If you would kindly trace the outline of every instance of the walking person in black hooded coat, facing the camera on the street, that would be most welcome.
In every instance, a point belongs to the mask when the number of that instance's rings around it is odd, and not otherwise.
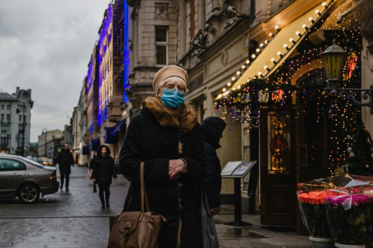
[[[98,184],[98,196],[101,200],[101,209],[109,208],[110,184],[111,178],[117,179],[117,172],[114,164],[114,159],[110,157],[110,149],[108,146],[101,145],[97,150],[97,157],[93,161],[92,166],[92,181]],[[105,192],[105,198],[104,198]]]

